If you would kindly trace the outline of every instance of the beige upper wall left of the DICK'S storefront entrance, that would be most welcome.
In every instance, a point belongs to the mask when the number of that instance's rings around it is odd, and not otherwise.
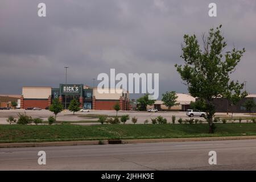
[[[52,93],[51,87],[24,86],[22,94],[24,98],[48,98]]]

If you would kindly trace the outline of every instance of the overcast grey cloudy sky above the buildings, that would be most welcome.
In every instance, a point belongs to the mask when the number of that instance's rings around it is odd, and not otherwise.
[[[46,3],[46,17],[38,3]],[[217,17],[208,5],[217,4]],[[93,85],[99,73],[159,73],[160,94],[187,93],[174,65],[184,34],[222,24],[228,49],[245,47],[232,78],[256,93],[256,1],[1,0],[0,94],[22,86]],[[227,49],[227,51],[228,51]]]

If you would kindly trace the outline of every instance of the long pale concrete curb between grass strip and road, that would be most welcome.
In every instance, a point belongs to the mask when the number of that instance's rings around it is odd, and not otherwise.
[[[163,138],[163,139],[123,139],[122,144],[126,143],[156,143],[156,142],[191,142],[191,141],[213,141],[213,140],[242,140],[256,139],[256,136],[245,137],[202,137],[202,138]],[[10,147],[51,147],[51,146],[79,146],[93,144],[108,144],[108,140],[85,140],[68,142],[28,142],[28,143],[0,143],[0,148]]]

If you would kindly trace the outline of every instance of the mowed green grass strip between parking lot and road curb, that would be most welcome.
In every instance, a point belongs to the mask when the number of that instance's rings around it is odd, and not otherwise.
[[[208,124],[0,125],[0,143],[256,135],[255,123],[217,123],[216,126],[216,132],[209,134]]]

